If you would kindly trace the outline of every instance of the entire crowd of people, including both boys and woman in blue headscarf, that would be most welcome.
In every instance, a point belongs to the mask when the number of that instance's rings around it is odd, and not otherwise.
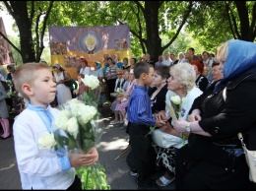
[[[37,157],[36,148],[28,136],[38,136],[35,121],[40,131],[48,128],[58,114],[54,106],[74,97],[81,99],[81,95],[89,91],[81,79],[95,75],[100,82],[95,90],[96,97],[100,100],[104,95],[114,115],[110,125],[120,125],[129,135],[128,156],[132,158],[127,164],[137,178],[138,189],[158,189],[173,181],[177,190],[255,189],[237,138],[237,133],[241,132],[249,150],[256,149],[255,139],[250,136],[256,125],[255,43],[227,40],[218,48],[216,57],[207,51],[202,56],[195,55],[191,47],[187,52],[179,52],[177,59],[173,53],[165,52],[158,61],[152,61],[149,53],[138,59],[125,57],[118,65],[112,57],[106,57],[105,61],[104,67],[96,61],[95,70],[91,70],[88,61],[81,59],[78,79],[72,79],[58,63],[52,68],[43,63],[28,63],[19,67],[15,75],[9,75],[16,91],[29,99],[26,109],[14,123],[23,188],[73,189],[81,185],[74,167],[95,162],[96,150],[77,159],[72,155],[67,159],[48,158],[40,153],[41,157],[33,160]],[[73,84],[67,86],[72,80]],[[1,85],[0,91],[0,98],[4,99],[6,94]],[[169,109],[169,106],[174,108],[174,96],[181,100],[175,118]],[[51,106],[54,101],[56,104]],[[30,123],[31,132],[28,132],[27,121],[31,116],[34,122]],[[8,114],[1,112],[0,117],[4,129],[2,137],[6,138],[10,136],[5,125]],[[156,145],[149,134],[153,127],[162,134],[177,137],[182,144],[167,148]],[[27,147],[23,147],[25,143]],[[44,174],[48,166],[55,167]],[[154,179],[159,172],[160,177]]]

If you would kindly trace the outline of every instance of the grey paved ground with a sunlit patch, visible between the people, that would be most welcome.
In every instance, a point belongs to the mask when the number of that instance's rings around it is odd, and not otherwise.
[[[104,132],[97,145],[99,162],[105,166],[107,183],[111,190],[134,190],[137,189],[136,178],[130,174],[126,163],[127,154],[116,159],[128,146],[129,136],[118,125],[109,125],[113,116],[110,115],[109,107],[101,109],[105,121]],[[11,121],[12,122],[12,121]],[[2,133],[0,131],[0,133]],[[20,174],[14,152],[13,136],[6,140],[0,140],[0,189],[22,189]],[[174,190],[174,182],[160,190]]]

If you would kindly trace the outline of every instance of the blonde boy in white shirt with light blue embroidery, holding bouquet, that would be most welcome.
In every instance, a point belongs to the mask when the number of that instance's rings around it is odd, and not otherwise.
[[[51,123],[60,112],[49,104],[56,95],[51,72],[44,63],[26,63],[17,68],[13,78],[17,92],[29,100],[13,125],[22,188],[81,189],[75,167],[93,164],[98,158],[96,149],[88,155],[69,152],[59,156],[51,149],[38,148],[38,139],[53,131]]]

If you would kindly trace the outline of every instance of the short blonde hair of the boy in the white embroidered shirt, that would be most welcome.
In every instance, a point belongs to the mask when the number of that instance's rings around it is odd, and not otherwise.
[[[36,73],[36,71],[41,69],[47,69],[49,71],[52,71],[51,67],[45,63],[30,62],[23,64],[22,66],[19,66],[16,69],[13,77],[15,90],[18,93],[20,93],[23,97],[30,100],[30,97],[24,94],[24,92],[22,91],[22,86],[24,84],[32,85],[32,82],[36,79],[37,75],[39,74]]]

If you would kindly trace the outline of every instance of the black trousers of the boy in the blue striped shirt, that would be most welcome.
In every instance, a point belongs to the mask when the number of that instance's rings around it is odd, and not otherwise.
[[[150,183],[156,170],[157,154],[152,146],[151,135],[147,135],[149,131],[149,126],[129,123],[130,144],[139,173],[138,185],[142,186]]]

